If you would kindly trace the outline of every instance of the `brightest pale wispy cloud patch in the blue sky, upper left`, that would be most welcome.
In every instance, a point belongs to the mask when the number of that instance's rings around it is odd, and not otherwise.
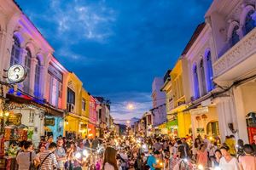
[[[55,11],[55,14],[52,15],[51,20],[57,23],[58,35],[78,34],[76,38],[79,39],[104,42],[113,34],[110,25],[115,21],[115,14],[113,9],[102,7],[102,5],[98,3],[96,6],[86,6],[74,1],[67,8],[63,8],[58,1],[52,1],[50,10]]]

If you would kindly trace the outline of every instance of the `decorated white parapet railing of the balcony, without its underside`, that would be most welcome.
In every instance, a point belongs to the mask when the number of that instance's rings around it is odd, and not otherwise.
[[[255,53],[256,28],[250,31],[213,64],[214,77],[219,77]]]

